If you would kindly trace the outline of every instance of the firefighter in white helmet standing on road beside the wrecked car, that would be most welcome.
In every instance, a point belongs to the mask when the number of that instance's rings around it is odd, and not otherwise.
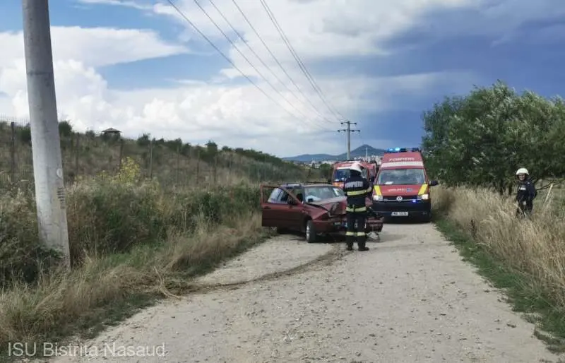
[[[359,162],[355,162],[350,167],[350,176],[343,183],[343,191],[347,196],[347,232],[345,234],[345,243],[347,251],[352,251],[353,242],[357,237],[357,246],[359,251],[369,251],[365,246],[367,235],[365,234],[365,218],[367,215],[367,205],[365,198],[371,193],[371,185],[369,181],[362,177],[362,166]],[[357,222],[357,230],[355,229]]]

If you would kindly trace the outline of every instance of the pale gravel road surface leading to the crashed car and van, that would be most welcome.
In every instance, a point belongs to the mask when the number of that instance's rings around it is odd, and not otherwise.
[[[233,285],[169,299],[88,343],[164,343],[165,358],[107,352],[82,359],[557,362],[533,337],[534,326],[514,314],[433,225],[387,224],[381,235],[364,253],[276,237],[201,280]],[[304,263],[286,275],[274,273]]]

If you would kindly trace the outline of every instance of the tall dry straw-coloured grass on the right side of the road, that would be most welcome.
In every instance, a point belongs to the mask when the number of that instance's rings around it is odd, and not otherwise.
[[[537,196],[531,220],[516,218],[513,197],[487,189],[439,187],[434,211],[445,218],[504,266],[532,278],[535,289],[565,308],[564,191]]]

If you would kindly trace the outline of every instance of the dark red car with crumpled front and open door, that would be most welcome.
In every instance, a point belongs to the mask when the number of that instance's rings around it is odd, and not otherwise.
[[[346,196],[343,189],[331,184],[261,185],[263,227],[276,227],[278,232],[290,230],[306,234],[308,242],[320,235],[345,235]],[[365,232],[383,230],[383,217],[374,213],[367,198]]]

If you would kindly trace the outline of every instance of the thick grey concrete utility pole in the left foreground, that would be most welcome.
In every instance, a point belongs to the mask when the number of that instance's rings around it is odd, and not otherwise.
[[[65,185],[47,0],[22,0],[31,145],[39,237],[69,261]]]

